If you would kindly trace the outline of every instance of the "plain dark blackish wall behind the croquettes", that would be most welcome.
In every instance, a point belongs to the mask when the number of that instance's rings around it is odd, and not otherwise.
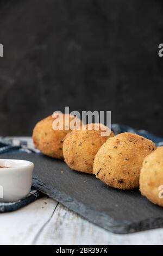
[[[0,1],[0,135],[70,106],[163,136],[162,15],[161,0]]]

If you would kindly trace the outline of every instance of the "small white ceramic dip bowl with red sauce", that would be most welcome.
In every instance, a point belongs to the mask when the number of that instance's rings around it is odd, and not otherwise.
[[[15,202],[26,197],[32,186],[34,163],[0,159],[0,202]]]

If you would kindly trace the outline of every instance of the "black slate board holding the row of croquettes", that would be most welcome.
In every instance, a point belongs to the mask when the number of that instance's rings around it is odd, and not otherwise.
[[[94,175],[73,171],[64,161],[42,154],[1,157],[33,161],[33,185],[99,227],[118,234],[163,227],[163,209],[142,197],[139,190],[116,190]]]

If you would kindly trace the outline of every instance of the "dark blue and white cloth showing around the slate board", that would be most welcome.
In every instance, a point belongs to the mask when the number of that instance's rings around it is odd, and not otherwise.
[[[158,147],[163,145],[162,138],[157,137],[145,130],[136,130],[126,125],[119,125],[119,124],[112,124],[111,129],[114,131],[115,135],[121,132],[137,133],[141,136],[151,139]],[[22,137],[19,139],[17,137],[15,139],[15,138],[3,137],[0,139],[0,154],[4,154],[4,153],[14,154],[14,152],[17,152],[17,151],[26,152],[27,154],[39,153],[38,150],[34,149],[31,138]],[[34,202],[37,198],[40,198],[41,196],[42,196],[42,193],[39,190],[32,188],[28,196],[26,198],[23,198],[22,200],[19,200],[18,202],[0,203],[0,212],[15,211],[17,209],[22,208],[25,205],[28,205],[29,203]]]

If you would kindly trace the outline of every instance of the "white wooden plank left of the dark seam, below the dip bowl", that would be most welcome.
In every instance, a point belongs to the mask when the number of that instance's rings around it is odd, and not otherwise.
[[[57,202],[47,197],[13,212],[0,214],[1,245],[31,245],[50,220]]]

